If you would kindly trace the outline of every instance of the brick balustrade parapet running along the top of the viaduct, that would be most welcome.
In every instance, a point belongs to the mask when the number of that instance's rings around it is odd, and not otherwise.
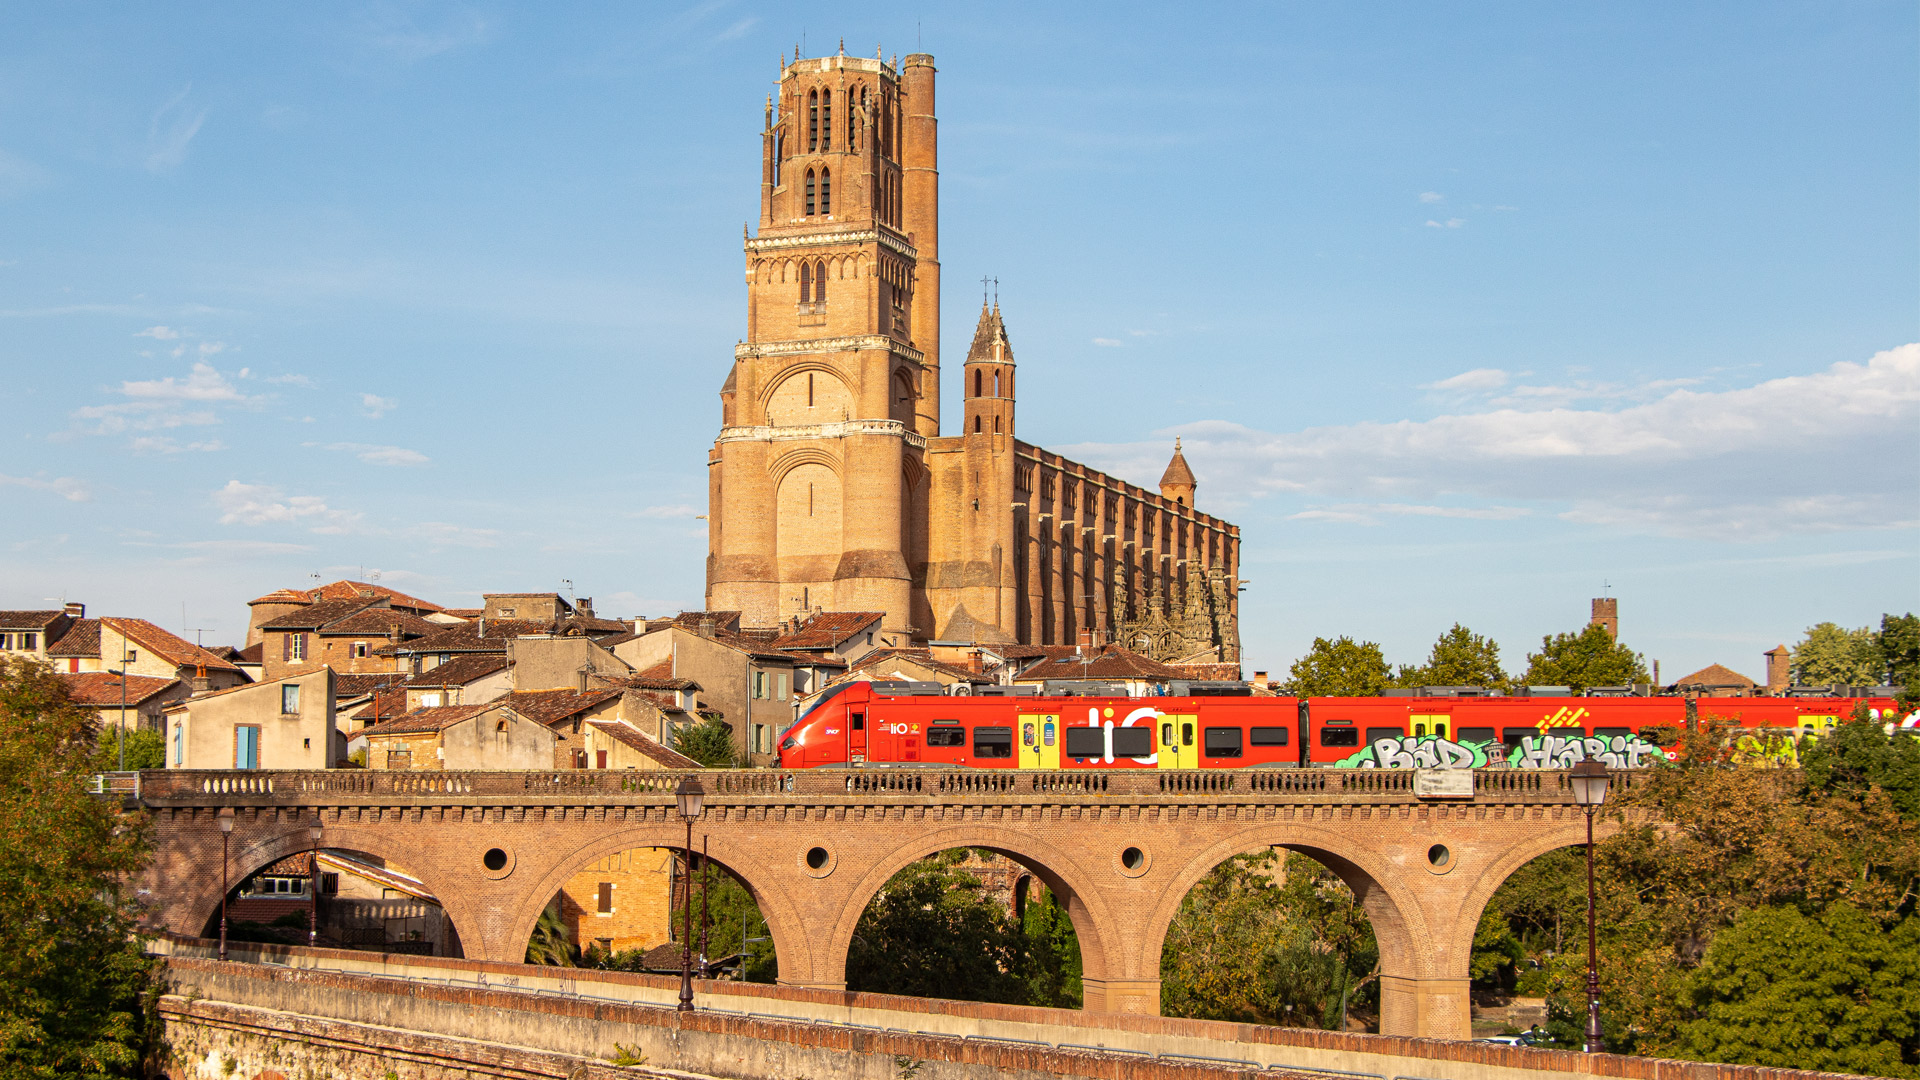
[[[236,773],[156,769],[140,774],[140,799],[154,805],[311,805],[455,798],[651,805],[670,801],[684,778],[697,778],[718,803],[1444,803],[1415,792],[1407,769],[699,769],[699,771],[386,771],[315,769]],[[1615,796],[1644,778],[1615,773]],[[1452,798],[1457,801],[1457,798]],[[1478,769],[1473,801],[1486,805],[1572,803],[1565,771]]]

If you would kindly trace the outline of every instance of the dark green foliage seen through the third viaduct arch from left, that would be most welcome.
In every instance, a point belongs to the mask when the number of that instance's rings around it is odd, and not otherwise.
[[[866,905],[847,953],[849,990],[1027,1003],[1027,936],[958,869],[964,857],[922,859]]]

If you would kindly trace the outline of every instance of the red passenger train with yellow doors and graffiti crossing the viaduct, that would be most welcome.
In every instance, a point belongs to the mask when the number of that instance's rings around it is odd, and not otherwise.
[[[780,765],[1471,769],[1503,759],[1517,769],[1565,769],[1597,759],[1636,769],[1668,757],[1659,744],[1672,740],[1657,730],[1688,724],[1684,698],[1043,698],[931,690],[843,684],[781,734]],[[1862,701],[1874,715],[1895,717],[1893,698],[1882,696],[1699,698],[1693,705],[1697,723],[1818,734]]]

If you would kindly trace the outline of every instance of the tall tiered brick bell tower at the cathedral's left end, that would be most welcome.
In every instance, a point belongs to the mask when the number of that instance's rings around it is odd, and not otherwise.
[[[933,58],[787,61],[745,238],[747,334],[708,455],[707,607],[912,632],[939,436]],[[893,634],[889,634],[893,636]]]

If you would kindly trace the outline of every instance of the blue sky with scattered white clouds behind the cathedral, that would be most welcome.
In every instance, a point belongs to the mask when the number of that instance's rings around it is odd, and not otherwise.
[[[941,67],[947,352],[996,277],[1023,438],[1187,440],[1250,671],[1605,590],[1761,675],[1920,607],[1916,12],[13,4],[0,607],[699,605],[762,102],[845,38]]]

